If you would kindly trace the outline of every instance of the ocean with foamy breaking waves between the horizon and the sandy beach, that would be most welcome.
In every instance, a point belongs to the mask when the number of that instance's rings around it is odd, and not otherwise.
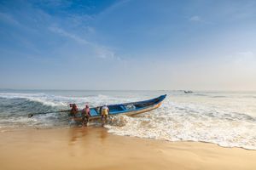
[[[22,128],[71,127],[67,114],[76,103],[90,107],[152,99],[167,94],[160,108],[137,116],[112,116],[108,133],[168,141],[201,141],[256,150],[256,92],[0,90],[0,132]],[[38,112],[49,114],[28,114]],[[90,122],[97,126],[97,122]]]

